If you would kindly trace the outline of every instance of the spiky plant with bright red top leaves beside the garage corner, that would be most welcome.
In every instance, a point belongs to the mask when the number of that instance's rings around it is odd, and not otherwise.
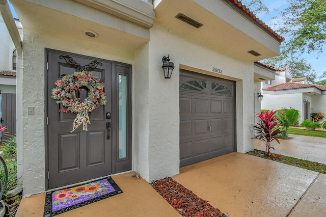
[[[253,139],[258,139],[265,144],[266,146],[265,155],[268,157],[269,157],[269,149],[273,148],[270,147],[270,143],[273,140],[275,140],[280,144],[280,141],[278,140],[278,134],[282,131],[280,130],[280,127],[278,127],[279,121],[275,116],[276,112],[277,111],[273,112],[272,110],[270,113],[266,111],[265,114],[263,114],[262,112],[260,114],[257,114],[257,117],[260,118],[261,122],[257,123],[257,125],[254,125],[254,130],[256,132],[256,135]]]

